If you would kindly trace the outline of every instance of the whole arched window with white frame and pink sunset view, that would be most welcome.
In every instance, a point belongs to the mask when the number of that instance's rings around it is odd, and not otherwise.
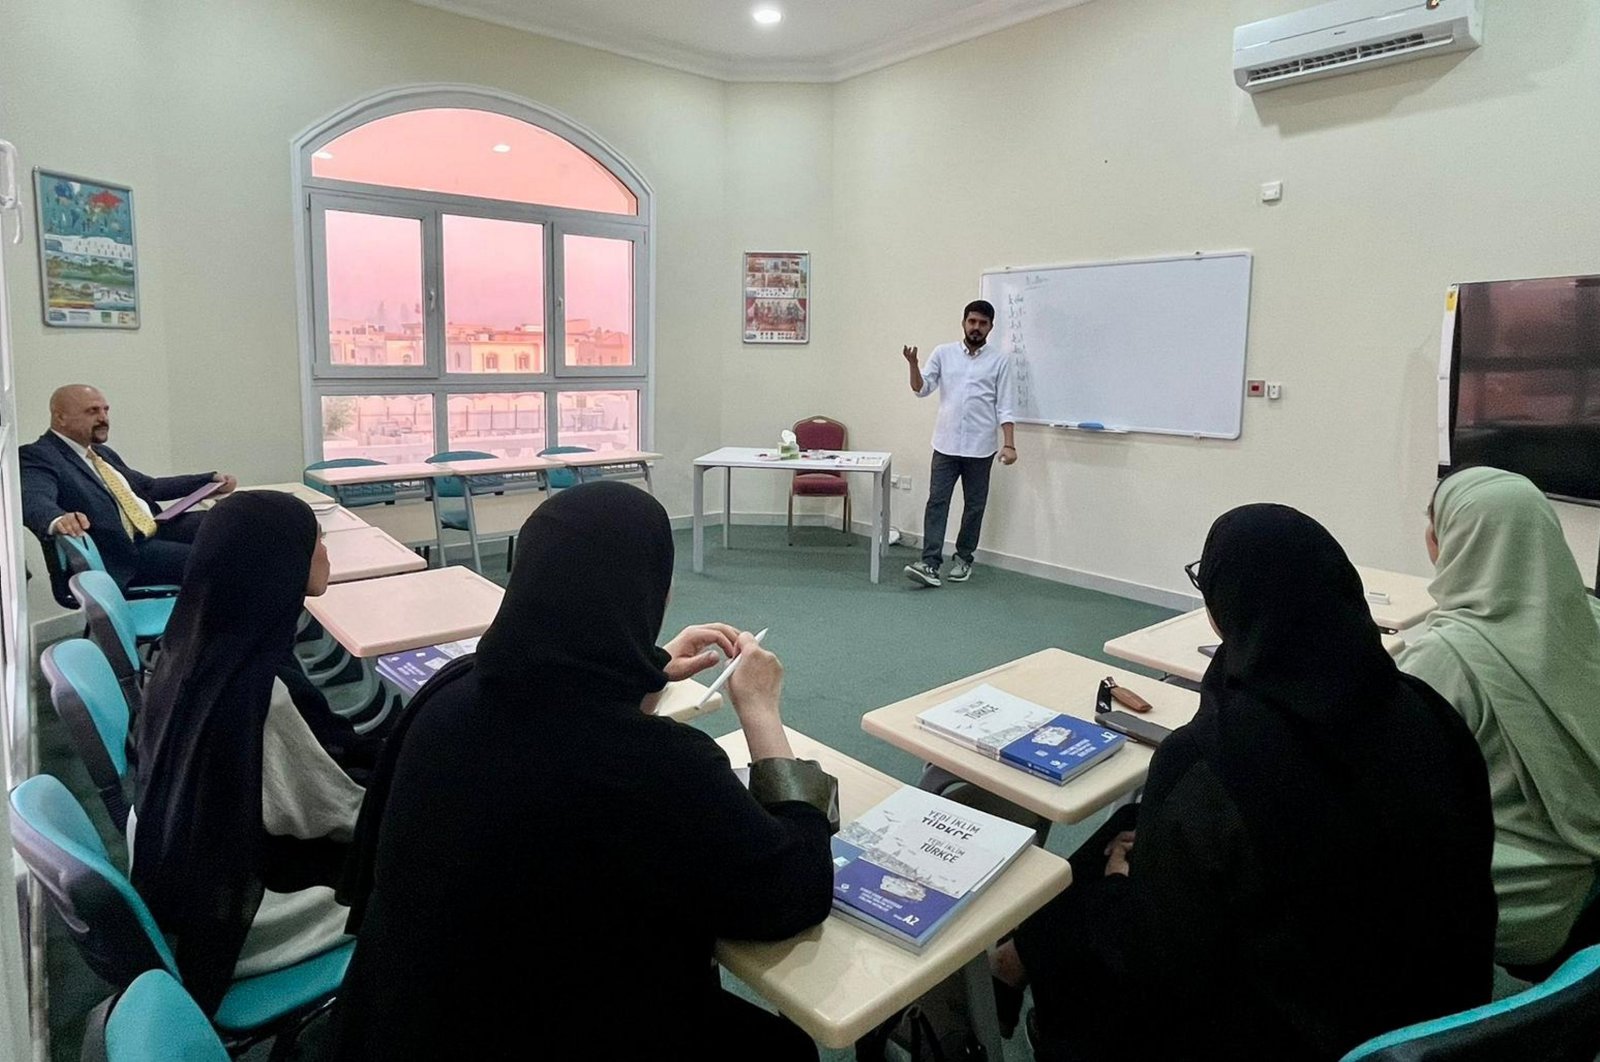
[[[402,90],[296,152],[307,422],[323,427],[307,459],[648,443],[650,189],[598,138],[493,93]],[[432,435],[419,417],[394,429],[395,395],[427,400]],[[563,416],[586,398],[618,416]],[[507,400],[517,430],[491,438]]]

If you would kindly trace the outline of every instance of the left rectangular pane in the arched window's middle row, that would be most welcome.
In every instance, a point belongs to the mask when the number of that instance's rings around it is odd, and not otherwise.
[[[328,355],[334,365],[424,365],[422,222],[330,210]]]

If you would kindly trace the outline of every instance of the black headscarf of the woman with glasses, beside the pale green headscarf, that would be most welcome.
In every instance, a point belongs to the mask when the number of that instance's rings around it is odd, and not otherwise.
[[[1405,833],[1430,763],[1482,769],[1450,705],[1395,667],[1360,574],[1320,523],[1286,505],[1234,509],[1211,526],[1198,581],[1222,645],[1195,737],[1275,872],[1371,851],[1390,819]]]

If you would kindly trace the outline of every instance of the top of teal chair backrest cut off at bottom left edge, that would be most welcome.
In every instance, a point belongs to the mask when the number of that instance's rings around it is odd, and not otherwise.
[[[106,1012],[109,1009],[109,1014]],[[90,1016],[83,1062],[227,1062],[200,1004],[165,969],[149,969]]]

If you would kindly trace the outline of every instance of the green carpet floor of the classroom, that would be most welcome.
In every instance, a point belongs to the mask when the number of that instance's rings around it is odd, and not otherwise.
[[[704,621],[747,630],[770,627],[766,648],[786,669],[784,721],[906,782],[917,781],[922,765],[862,733],[862,713],[1048,646],[1107,659],[1101,653],[1107,638],[1171,614],[986,566],[978,566],[966,584],[920,589],[901,574],[901,568],[915,560],[915,552],[904,547],[891,547],[883,582],[874,585],[867,581],[866,541],[824,528],[797,529],[792,547],[782,528],[736,528],[731,550],[722,549],[722,536],[714,529],[707,536],[706,571],[696,576],[690,566],[690,534],[683,531],[675,537],[678,574],[667,609],[667,635]],[[501,561],[498,555],[485,557],[486,574],[502,581]],[[1085,710],[1091,696],[1091,689],[1082,691]],[[110,838],[104,809],[48,709],[43,689],[38,705],[42,769],[61,776]],[[731,710],[722,710],[694,725],[720,736],[738,726],[738,720]],[[1096,825],[1098,820],[1090,820],[1058,827],[1050,848],[1066,854]],[[730,987],[739,990],[734,984]],[[83,1016],[107,993],[109,988],[83,966],[64,926],[53,920],[53,1059],[78,1057]],[[320,1057],[323,1033],[322,1028],[309,1030],[299,1057]],[[824,1059],[853,1057],[848,1051],[822,1054]],[[1021,1038],[1008,1044],[1006,1056],[1027,1057]],[[264,1060],[266,1048],[246,1057]]]

